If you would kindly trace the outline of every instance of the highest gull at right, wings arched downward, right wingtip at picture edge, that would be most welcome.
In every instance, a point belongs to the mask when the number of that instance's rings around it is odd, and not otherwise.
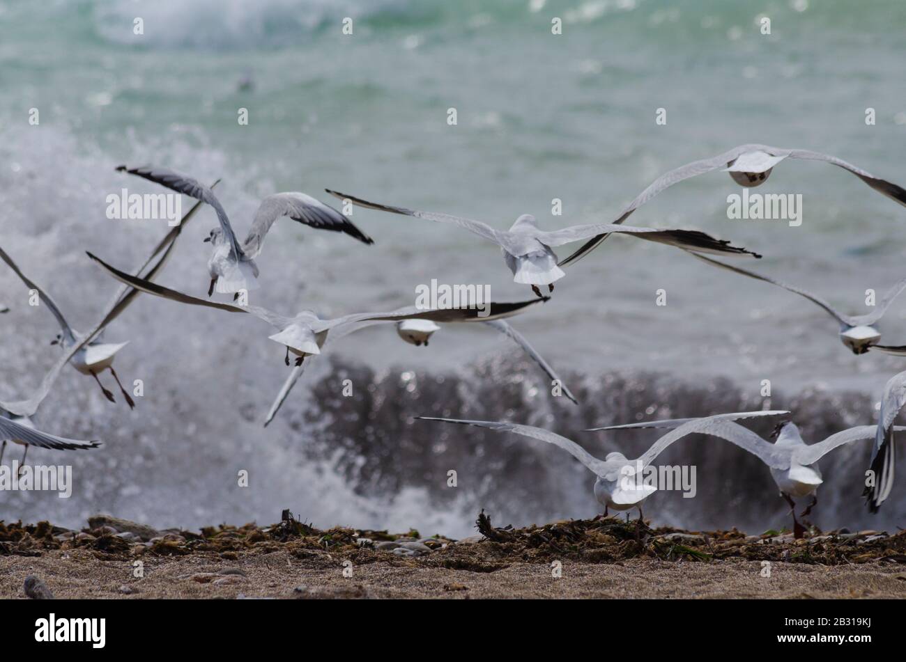
[[[660,194],[664,189],[670,188],[673,184],[678,184],[683,180],[694,177],[695,175],[704,175],[714,170],[722,169],[728,173],[733,181],[742,186],[757,186],[764,184],[768,175],[775,165],[785,158],[800,158],[805,161],[824,161],[844,170],[848,170],[861,179],[865,184],[871,186],[875,191],[886,195],[892,200],[906,205],[906,190],[903,190],[897,184],[892,184],[884,179],[879,179],[871,173],[866,173],[862,168],[853,164],[846,163],[836,156],[829,156],[819,152],[811,152],[807,149],[783,149],[781,147],[768,147],[766,145],[740,145],[733,147],[728,152],[718,156],[705,158],[700,161],[693,161],[686,165],[680,165],[678,168],[670,170],[665,175],[660,175],[651,185],[639,194],[635,200],[623,207],[620,216],[614,221],[619,225],[630,214],[647,203],[655,195]],[[575,251],[568,258],[560,262],[561,267],[581,260],[585,255],[593,251],[602,241],[607,239],[607,234],[601,233],[583,244],[582,248]]]

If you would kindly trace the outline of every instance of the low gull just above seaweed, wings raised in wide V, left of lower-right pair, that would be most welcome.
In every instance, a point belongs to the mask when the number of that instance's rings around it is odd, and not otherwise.
[[[478,428],[487,428],[496,432],[516,432],[516,434],[521,434],[523,437],[531,437],[532,439],[546,441],[549,444],[554,444],[554,446],[559,446],[572,455],[573,458],[582,462],[586,468],[589,468],[598,477],[594,481],[594,497],[599,504],[604,506],[605,517],[608,515],[610,508],[614,510],[630,510],[636,507],[639,508],[639,519],[641,519],[641,502],[651,497],[658,488],[648,484],[641,484],[639,482],[641,477],[632,477],[651,465],[654,459],[674,441],[703,429],[708,429],[712,419],[732,421],[732,417],[751,418],[756,416],[778,416],[787,413],[789,411],[744,411],[733,414],[719,414],[708,419],[692,419],[680,425],[670,434],[661,437],[638,459],[627,459],[626,456],[618,452],[608,453],[604,459],[597,459],[575,441],[561,437],[550,430],[535,428],[531,425],[519,425],[505,421],[464,421],[430,416],[416,416],[416,418],[421,421],[443,421],[461,425],[474,425]]]

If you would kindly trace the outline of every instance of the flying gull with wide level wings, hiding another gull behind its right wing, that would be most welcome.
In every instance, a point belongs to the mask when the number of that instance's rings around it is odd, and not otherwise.
[[[520,310],[527,306],[537,303],[537,300],[519,301],[516,303],[491,303],[487,310],[486,317],[480,317],[477,308],[441,308],[432,310],[419,310],[416,307],[403,308],[389,313],[357,313],[345,317],[334,319],[321,319],[311,310],[303,310],[294,317],[285,317],[278,313],[267,310],[259,306],[234,306],[232,304],[220,303],[217,301],[208,301],[203,298],[191,297],[175,289],[164,288],[149,280],[130,276],[128,273],[115,269],[100,258],[88,253],[88,257],[97,262],[102,270],[107,271],[113,278],[129,285],[132,288],[140,289],[162,298],[169,298],[179,303],[191,304],[193,306],[203,306],[225,310],[230,313],[247,313],[264,320],[277,331],[269,339],[274,340],[286,348],[285,363],[289,365],[289,355],[292,353],[296,356],[295,364],[300,366],[306,356],[321,354],[321,348],[328,339],[330,331],[334,328],[342,328],[356,322],[365,321],[396,321],[401,317],[411,317],[416,319],[430,319],[436,322],[453,322],[453,321],[473,321],[481,322],[498,317],[509,317],[516,315]],[[546,300],[546,299],[543,299]],[[342,333],[339,332],[338,333]],[[335,336],[336,334],[334,334]]]

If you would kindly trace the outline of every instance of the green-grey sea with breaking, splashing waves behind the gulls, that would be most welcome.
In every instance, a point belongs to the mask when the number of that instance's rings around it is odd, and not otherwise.
[[[551,33],[554,16],[562,34]],[[770,35],[760,32],[765,16]],[[345,17],[352,35],[342,34]],[[218,196],[239,234],[266,194],[300,190],[330,202],[325,187],[497,227],[521,213],[545,228],[608,222],[662,172],[747,142],[824,151],[903,184],[904,21],[899,0],[0,2],[2,245],[84,329],[116,287],[84,251],[129,268],[165,232],[105,218],[107,194],[122,186],[159,191],[116,173],[120,163],[222,177]],[[236,121],[241,108],[247,126]],[[457,126],[448,126],[449,108]],[[666,125],[655,123],[657,109]],[[731,239],[765,255],[745,266],[853,313],[867,310],[867,288],[880,293],[902,278],[906,210],[852,175],[786,161],[755,191],[802,194],[802,225],[729,220],[727,196],[739,187],[723,173],[671,188],[631,223]],[[562,216],[551,213],[554,198]],[[370,210],[352,218],[373,246],[278,222],[255,302],[325,315],[390,309],[430,279],[488,284],[496,300],[532,296],[494,246],[467,232]],[[201,240],[215,222],[210,209],[199,214],[162,283],[204,293]],[[57,356],[48,345],[57,329],[45,310],[27,307],[9,270],[0,288],[13,308],[0,319],[0,392],[21,397]],[[130,340],[116,367],[146,384],[137,409],[109,404],[90,379],[66,371],[36,421],[108,445],[72,456],[33,449],[34,461],[72,461],[75,492],[7,493],[0,518],[77,525],[107,511],[198,526],[269,522],[289,507],[316,525],[463,535],[481,507],[498,524],[589,516],[593,476],[557,449],[410,418],[524,421],[592,452],[631,455],[651,434],[581,430],[760,408],[768,379],[770,405],[790,408],[819,440],[871,422],[883,384],[906,367],[849,354],[833,320],[793,294],[624,238],[570,267],[554,298],[513,324],[567,376],[582,407],[552,398],[493,331],[444,328],[426,348],[384,327],[314,361],[265,430],[287,369],[261,324],[140,298],[108,332]],[[906,344],[906,299],[882,330]],[[352,379],[352,398],[340,395],[342,378]],[[7,452],[17,458],[17,448]],[[901,489],[880,515],[864,511],[869,452],[866,443],[824,459],[817,525],[902,524]],[[743,451],[688,440],[663,459],[694,461],[699,495],[655,495],[645,512],[655,523],[786,524],[766,469]],[[456,488],[447,487],[450,469]],[[247,488],[237,486],[240,470]]]

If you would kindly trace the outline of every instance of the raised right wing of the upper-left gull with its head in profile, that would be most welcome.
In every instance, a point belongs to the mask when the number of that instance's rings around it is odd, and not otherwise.
[[[267,232],[277,219],[283,216],[288,216],[294,221],[304,223],[318,230],[345,232],[363,243],[374,243],[371,237],[361,232],[342,213],[315,200],[311,195],[295,192],[282,193],[268,195],[258,206],[258,211],[255,212],[255,221],[252,222],[252,229],[248,232],[246,241],[242,244],[242,249],[246,251],[248,257],[254,258],[261,252]]]

